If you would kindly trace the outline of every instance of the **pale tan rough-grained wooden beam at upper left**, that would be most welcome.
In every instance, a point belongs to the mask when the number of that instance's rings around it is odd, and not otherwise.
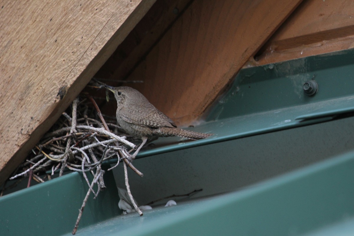
[[[0,4],[0,184],[154,2]]]

